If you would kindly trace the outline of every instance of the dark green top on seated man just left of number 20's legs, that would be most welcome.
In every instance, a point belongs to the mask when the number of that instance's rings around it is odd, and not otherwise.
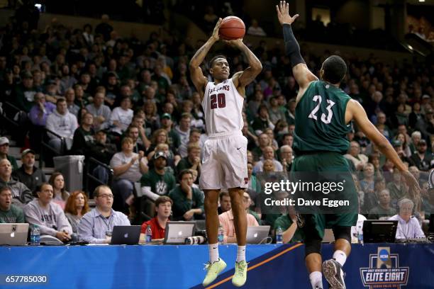
[[[183,215],[191,209],[201,209],[204,213],[204,193],[198,188],[193,190],[191,200],[187,199],[186,194],[182,191],[181,186],[177,186],[169,193],[169,197],[173,201],[172,210],[174,220],[183,220]]]

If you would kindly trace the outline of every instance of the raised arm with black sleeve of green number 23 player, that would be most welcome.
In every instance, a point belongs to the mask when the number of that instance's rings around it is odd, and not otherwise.
[[[289,4],[286,1],[280,1],[280,4],[276,5],[276,10],[277,18],[279,18],[279,22],[283,26],[285,53],[291,60],[292,74],[294,74],[294,78],[299,84],[300,89],[304,90],[311,81],[318,78],[308,69],[306,62],[301,57],[299,42],[297,42],[292,32],[291,23],[299,17],[299,14],[293,17],[289,16]]]

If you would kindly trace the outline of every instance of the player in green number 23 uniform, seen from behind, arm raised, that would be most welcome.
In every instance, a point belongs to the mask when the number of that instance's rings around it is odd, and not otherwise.
[[[280,1],[276,9],[277,18],[283,26],[285,53],[291,60],[292,73],[299,84],[293,145],[296,159],[292,171],[334,170],[350,174],[343,154],[349,146],[346,135],[351,130],[350,122],[354,120],[357,127],[401,171],[412,197],[418,198],[418,182],[408,172],[389,141],[372,125],[360,103],[339,89],[340,82],[347,73],[345,61],[338,55],[328,57],[321,67],[321,80],[318,80],[301,57],[299,43],[291,30],[291,23],[299,15],[289,16],[289,4],[286,1]],[[357,202],[354,183],[346,186],[343,196],[338,199]],[[330,288],[345,289],[343,266],[351,251],[350,232],[351,226],[356,225],[357,213],[298,216],[297,225],[306,236],[305,261],[312,288],[323,288],[323,273]],[[326,227],[333,229],[335,251],[333,259],[321,264],[321,240]]]

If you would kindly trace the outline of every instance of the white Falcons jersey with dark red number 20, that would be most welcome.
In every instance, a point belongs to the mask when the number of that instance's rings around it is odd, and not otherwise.
[[[242,130],[243,104],[244,98],[238,93],[232,79],[217,85],[208,82],[202,101],[208,135]]]

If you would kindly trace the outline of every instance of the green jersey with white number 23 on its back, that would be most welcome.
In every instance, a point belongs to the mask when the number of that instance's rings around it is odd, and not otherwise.
[[[325,81],[312,81],[296,106],[294,150],[347,152],[345,111],[350,96]]]

